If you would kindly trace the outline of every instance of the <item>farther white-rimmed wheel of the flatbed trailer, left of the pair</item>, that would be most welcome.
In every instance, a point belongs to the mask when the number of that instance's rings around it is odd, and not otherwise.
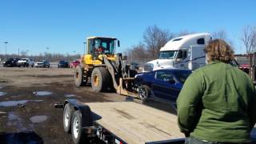
[[[70,108],[70,104],[67,103],[64,107],[64,111],[63,111],[63,127],[64,127],[64,131],[66,133],[70,133],[71,131],[71,117],[73,114],[74,110]]]

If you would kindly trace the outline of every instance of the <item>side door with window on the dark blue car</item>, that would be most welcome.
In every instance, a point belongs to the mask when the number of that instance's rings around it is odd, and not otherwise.
[[[173,74],[168,70],[158,70],[155,74],[155,81],[152,83],[152,90],[154,96],[169,101],[174,101],[177,96],[175,96],[175,86],[176,82]]]

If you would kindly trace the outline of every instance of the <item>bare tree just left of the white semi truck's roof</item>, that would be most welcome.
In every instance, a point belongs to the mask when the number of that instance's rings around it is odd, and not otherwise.
[[[157,58],[161,47],[173,37],[174,34],[171,34],[169,30],[161,30],[158,26],[149,26],[143,38],[150,58]]]

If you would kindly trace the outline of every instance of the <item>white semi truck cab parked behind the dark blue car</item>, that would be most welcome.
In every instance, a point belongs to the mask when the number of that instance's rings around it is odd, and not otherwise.
[[[159,58],[147,62],[144,71],[162,68],[195,70],[205,66],[205,46],[210,41],[209,33],[188,34],[171,39],[160,49]]]

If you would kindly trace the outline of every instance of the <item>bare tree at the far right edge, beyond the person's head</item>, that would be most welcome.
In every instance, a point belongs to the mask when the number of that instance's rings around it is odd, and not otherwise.
[[[246,46],[246,54],[256,51],[256,26],[245,26],[242,30],[241,40]]]

